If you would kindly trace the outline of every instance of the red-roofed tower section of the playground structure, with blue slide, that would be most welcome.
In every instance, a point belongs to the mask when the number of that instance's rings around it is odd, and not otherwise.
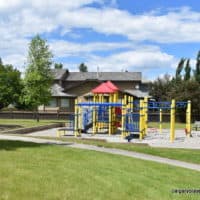
[[[75,136],[80,135],[80,130],[87,131],[92,125],[92,132],[96,134],[100,129],[107,128],[109,135],[117,130],[117,109],[121,107],[118,103],[119,89],[110,81],[102,83],[92,90],[92,102],[75,102]],[[92,109],[91,109],[92,108]],[[82,113],[82,111],[85,111]],[[119,110],[119,114],[120,110]],[[88,118],[90,117],[90,118]]]

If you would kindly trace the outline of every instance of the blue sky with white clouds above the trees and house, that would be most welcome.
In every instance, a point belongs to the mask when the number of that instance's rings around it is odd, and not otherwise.
[[[20,71],[30,40],[46,39],[55,62],[77,71],[173,74],[200,49],[198,0],[0,0],[0,57]]]

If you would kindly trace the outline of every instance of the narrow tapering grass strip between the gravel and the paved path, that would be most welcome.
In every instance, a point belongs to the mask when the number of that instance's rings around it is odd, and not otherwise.
[[[49,137],[40,137],[48,138]],[[54,138],[55,139],[55,138]],[[106,141],[93,140],[93,139],[82,139],[82,138],[57,138],[62,141],[76,142],[82,144],[91,144],[100,147],[117,148],[128,151],[135,151],[140,153],[151,154],[155,156],[161,156],[190,163],[200,164],[200,150],[199,149],[174,149],[174,148],[158,148],[150,147],[142,144],[132,143],[110,143]]]

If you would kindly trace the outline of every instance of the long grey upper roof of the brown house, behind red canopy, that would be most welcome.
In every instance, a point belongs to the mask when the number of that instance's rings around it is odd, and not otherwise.
[[[66,81],[141,81],[141,72],[70,72]]]

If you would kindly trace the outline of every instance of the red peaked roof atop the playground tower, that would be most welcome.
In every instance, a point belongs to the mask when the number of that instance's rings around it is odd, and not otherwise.
[[[110,82],[110,81],[109,81]],[[119,89],[112,83],[101,83],[99,86],[92,90],[92,93],[96,94],[108,94],[108,93],[115,93]]]

